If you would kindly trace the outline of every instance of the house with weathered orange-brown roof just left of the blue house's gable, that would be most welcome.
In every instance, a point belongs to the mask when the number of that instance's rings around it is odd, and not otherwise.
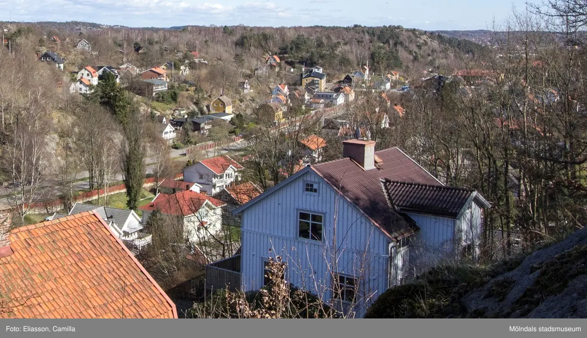
[[[222,224],[240,227],[241,217],[233,215],[232,211],[259,196],[262,192],[263,190],[252,182],[233,184],[220,190],[214,197],[226,203],[226,206],[222,208]]]

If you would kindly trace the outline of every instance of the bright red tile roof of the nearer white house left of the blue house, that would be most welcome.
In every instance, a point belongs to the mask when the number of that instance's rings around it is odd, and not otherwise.
[[[206,201],[212,203],[215,207],[226,205],[226,203],[214,197],[191,190],[184,190],[174,194],[158,194],[153,202],[145,204],[139,209],[145,211],[159,210],[164,214],[185,217],[197,213]]]

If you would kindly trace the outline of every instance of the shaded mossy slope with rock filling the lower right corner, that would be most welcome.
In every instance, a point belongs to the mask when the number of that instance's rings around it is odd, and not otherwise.
[[[444,267],[381,295],[367,317],[587,317],[587,229],[491,267]]]

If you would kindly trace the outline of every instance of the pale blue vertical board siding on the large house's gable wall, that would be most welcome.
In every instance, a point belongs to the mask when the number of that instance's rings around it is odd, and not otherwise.
[[[308,181],[319,183],[318,194],[304,192],[304,182]],[[323,215],[322,243],[299,238],[299,211]],[[333,260],[335,224],[338,250]],[[289,282],[325,301],[332,297],[328,289],[333,261],[338,261],[340,273],[359,275],[363,271],[363,293],[379,295],[387,289],[389,239],[313,172],[245,209],[241,231],[242,285],[246,291],[262,286],[263,261],[275,255],[287,262]]]

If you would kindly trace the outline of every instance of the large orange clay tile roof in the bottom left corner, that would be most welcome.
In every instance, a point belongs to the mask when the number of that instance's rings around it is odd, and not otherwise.
[[[100,216],[16,228],[0,258],[12,318],[177,318],[173,302]]]

